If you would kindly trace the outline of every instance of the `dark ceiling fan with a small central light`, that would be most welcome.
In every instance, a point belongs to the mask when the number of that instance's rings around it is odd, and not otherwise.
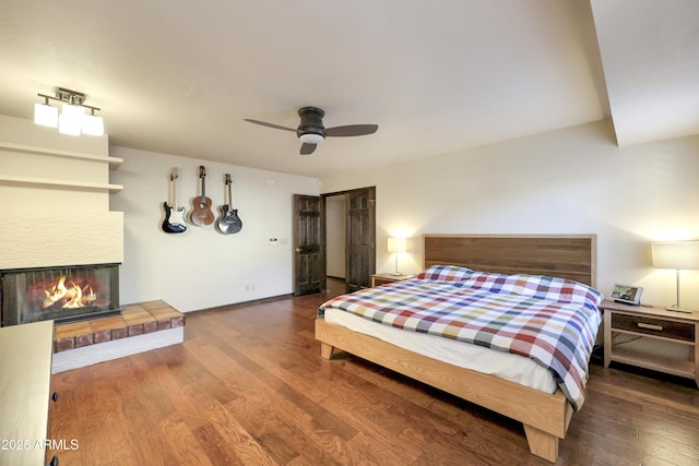
[[[301,107],[298,109],[298,116],[301,117],[301,122],[296,129],[281,127],[265,121],[251,120],[249,118],[245,118],[245,121],[277,130],[296,132],[296,136],[303,142],[300,150],[301,155],[312,154],[313,151],[316,151],[316,145],[328,136],[363,136],[365,134],[372,134],[379,129],[378,124],[347,124],[344,127],[325,128],[323,127],[324,115],[325,112],[320,108]]]

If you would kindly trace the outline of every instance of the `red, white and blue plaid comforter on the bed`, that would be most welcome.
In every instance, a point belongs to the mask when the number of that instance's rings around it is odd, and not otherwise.
[[[577,410],[584,402],[602,299],[597,290],[562,278],[435,266],[415,278],[331,299],[319,318],[336,308],[531,358],[553,373]]]

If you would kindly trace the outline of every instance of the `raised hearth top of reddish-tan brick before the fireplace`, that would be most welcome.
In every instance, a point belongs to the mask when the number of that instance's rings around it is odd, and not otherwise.
[[[54,353],[185,326],[185,314],[165,301],[123,307],[121,315],[56,325]]]

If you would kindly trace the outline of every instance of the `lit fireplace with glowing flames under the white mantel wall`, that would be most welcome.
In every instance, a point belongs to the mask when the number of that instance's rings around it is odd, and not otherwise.
[[[0,271],[2,326],[119,315],[119,264]]]

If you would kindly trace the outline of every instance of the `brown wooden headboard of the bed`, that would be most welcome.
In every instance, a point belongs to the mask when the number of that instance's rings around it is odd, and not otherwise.
[[[569,278],[596,286],[596,235],[424,235],[424,267]]]

